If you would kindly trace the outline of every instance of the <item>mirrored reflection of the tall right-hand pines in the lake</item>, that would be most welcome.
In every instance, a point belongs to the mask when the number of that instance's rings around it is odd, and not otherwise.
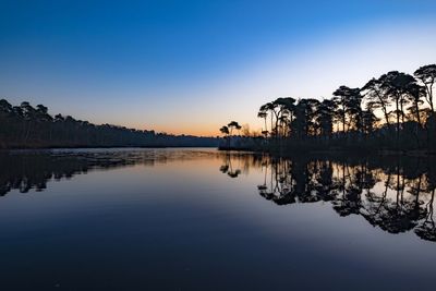
[[[220,170],[234,178],[241,173],[234,163],[262,168],[258,193],[276,205],[328,202],[341,217],[359,215],[389,233],[436,241],[432,159],[228,155]]]

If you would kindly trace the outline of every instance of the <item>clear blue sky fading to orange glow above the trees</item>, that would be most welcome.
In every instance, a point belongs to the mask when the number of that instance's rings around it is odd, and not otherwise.
[[[436,63],[436,1],[4,1],[0,98],[214,136],[277,97]]]

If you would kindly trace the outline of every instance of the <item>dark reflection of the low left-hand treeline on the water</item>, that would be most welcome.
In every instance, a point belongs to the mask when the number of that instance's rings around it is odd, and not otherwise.
[[[0,154],[0,196],[12,190],[27,193],[47,189],[50,181],[71,179],[90,170],[108,170],[143,165],[153,167],[169,160],[204,158],[217,155],[208,150],[165,149],[73,149],[17,150]]]

